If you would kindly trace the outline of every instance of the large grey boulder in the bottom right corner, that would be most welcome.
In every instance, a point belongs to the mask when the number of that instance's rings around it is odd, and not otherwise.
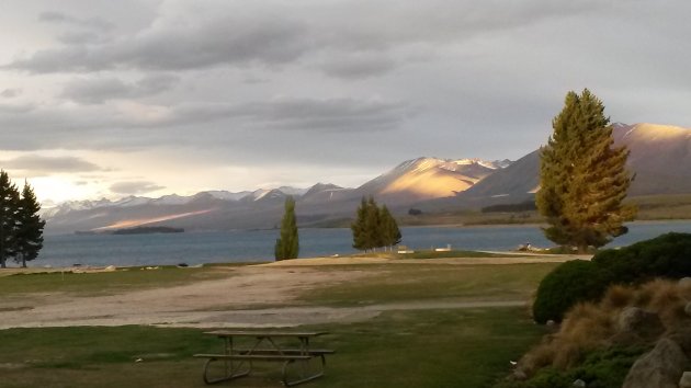
[[[688,362],[678,343],[661,339],[655,349],[636,360],[622,388],[677,388]]]

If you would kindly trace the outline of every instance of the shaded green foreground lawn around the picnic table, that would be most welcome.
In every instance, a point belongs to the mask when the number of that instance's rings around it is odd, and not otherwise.
[[[306,328],[310,329],[310,328]],[[320,326],[337,350],[308,387],[490,387],[543,334],[520,308],[390,311]],[[0,331],[0,387],[204,387],[197,352],[220,341],[197,329],[46,328]],[[136,362],[141,358],[141,362]],[[280,364],[219,386],[280,387]]]

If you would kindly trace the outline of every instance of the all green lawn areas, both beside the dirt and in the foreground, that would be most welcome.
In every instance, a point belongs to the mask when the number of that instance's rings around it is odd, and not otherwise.
[[[338,307],[524,300],[556,265],[427,261],[326,265],[319,271],[372,274],[306,290],[291,304]],[[0,288],[22,298],[22,293],[116,293],[222,276],[230,276],[227,269],[65,274],[65,279],[53,273],[0,277]],[[337,351],[327,357],[327,375],[305,385],[315,388],[491,387],[507,375],[509,361],[519,358],[544,334],[523,307],[393,310],[362,322],[301,329],[328,331],[313,343]],[[137,326],[0,330],[0,387],[205,387],[201,378],[204,361],[192,354],[218,352],[222,342],[204,331]],[[141,361],[136,362],[138,358]],[[218,386],[281,386],[281,364],[257,366],[257,374]]]

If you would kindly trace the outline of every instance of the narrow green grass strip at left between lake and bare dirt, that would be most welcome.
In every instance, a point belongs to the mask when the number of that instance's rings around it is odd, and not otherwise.
[[[0,276],[0,289],[3,297],[29,293],[69,293],[90,296],[189,284],[227,276],[231,275],[222,266],[186,269],[161,266],[159,270],[131,267],[97,273],[32,272]]]

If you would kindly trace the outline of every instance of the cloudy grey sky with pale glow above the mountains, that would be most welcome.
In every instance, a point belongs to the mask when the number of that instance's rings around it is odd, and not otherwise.
[[[691,126],[686,0],[3,0],[0,168],[44,206],[516,160],[570,90]]]

